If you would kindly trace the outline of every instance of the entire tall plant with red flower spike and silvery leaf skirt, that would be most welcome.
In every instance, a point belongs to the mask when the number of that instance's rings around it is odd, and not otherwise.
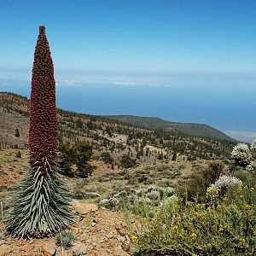
[[[69,195],[56,167],[54,66],[44,26],[39,26],[30,104],[30,167],[15,189],[6,229],[17,237],[53,236],[67,228],[73,218]]]

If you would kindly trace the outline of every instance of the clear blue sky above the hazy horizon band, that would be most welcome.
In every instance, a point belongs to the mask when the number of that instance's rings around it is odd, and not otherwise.
[[[256,71],[254,0],[9,0],[2,68],[31,68],[38,26],[56,69]]]

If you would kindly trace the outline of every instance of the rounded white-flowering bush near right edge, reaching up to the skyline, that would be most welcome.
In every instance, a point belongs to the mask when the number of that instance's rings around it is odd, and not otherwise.
[[[231,158],[236,161],[239,166],[247,166],[252,160],[250,148],[245,143],[238,143],[231,153]]]

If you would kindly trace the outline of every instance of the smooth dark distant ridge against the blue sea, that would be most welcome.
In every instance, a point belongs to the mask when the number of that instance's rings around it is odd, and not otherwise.
[[[137,125],[148,129],[163,129],[172,128],[190,136],[211,137],[218,140],[226,140],[235,142],[236,140],[228,137],[224,132],[218,131],[209,125],[196,124],[196,123],[177,123],[170,122],[155,117],[139,117],[134,115],[108,115],[110,119],[119,120],[130,125]]]

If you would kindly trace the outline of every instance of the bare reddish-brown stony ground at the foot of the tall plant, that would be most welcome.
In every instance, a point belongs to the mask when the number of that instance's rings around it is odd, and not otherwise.
[[[55,237],[44,239],[14,239],[4,235],[1,224],[0,256],[38,255],[131,255],[133,248],[122,212],[98,209],[96,205],[79,201],[73,203],[76,214],[70,232],[76,237],[67,249],[57,246]]]

